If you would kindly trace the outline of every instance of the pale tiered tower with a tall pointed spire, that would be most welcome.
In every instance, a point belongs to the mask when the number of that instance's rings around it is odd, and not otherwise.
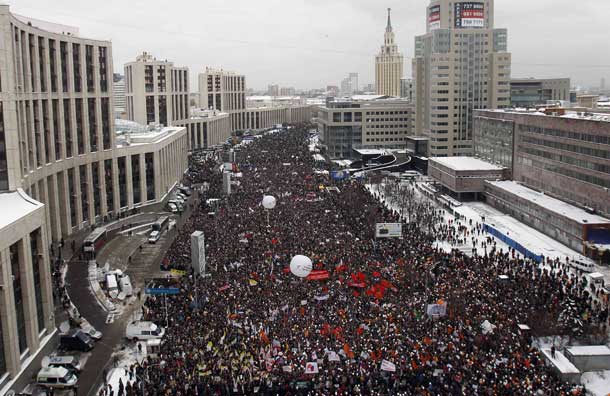
[[[390,11],[388,8],[388,26],[385,28],[381,52],[375,57],[375,89],[378,95],[400,96],[404,58],[394,43]]]

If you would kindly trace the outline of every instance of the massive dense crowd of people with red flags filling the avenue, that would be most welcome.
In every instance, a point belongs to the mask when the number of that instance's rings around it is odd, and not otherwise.
[[[425,200],[409,205],[402,239],[376,239],[376,223],[404,213],[363,181],[316,172],[308,137],[299,127],[242,147],[228,197],[216,158],[194,165],[192,183],[206,188],[166,263],[189,268],[190,234],[201,230],[209,276],[184,276],[180,294],[146,300],[144,317],[167,320],[167,331],[160,356],[134,367],[127,394],[583,392],[558,380],[518,328],[572,334],[581,323],[607,332],[607,301],[583,277],[492,240],[483,255],[442,251],[439,237],[465,240],[478,225],[449,224]],[[265,195],[277,198],[268,212]],[[216,198],[221,205],[210,206]],[[298,254],[328,278],[293,275]]]

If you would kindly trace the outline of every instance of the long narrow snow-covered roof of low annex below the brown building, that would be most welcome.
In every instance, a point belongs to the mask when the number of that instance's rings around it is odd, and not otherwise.
[[[517,195],[519,198],[526,199],[551,212],[565,216],[581,224],[610,224],[610,220],[596,214],[586,212],[577,206],[550,197],[531,188],[527,188],[514,181],[488,181],[487,183]]]

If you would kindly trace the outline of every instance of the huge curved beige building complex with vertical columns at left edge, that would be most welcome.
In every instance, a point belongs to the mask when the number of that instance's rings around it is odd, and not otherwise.
[[[157,203],[187,168],[184,128],[115,133],[112,46],[0,5],[0,378],[54,330],[49,246]],[[11,208],[6,210],[6,208]]]

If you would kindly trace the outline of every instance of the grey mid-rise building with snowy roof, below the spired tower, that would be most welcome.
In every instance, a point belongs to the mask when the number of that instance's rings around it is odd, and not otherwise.
[[[411,134],[413,106],[379,95],[329,99],[318,109],[318,131],[333,159],[348,159],[354,149],[404,149]]]

